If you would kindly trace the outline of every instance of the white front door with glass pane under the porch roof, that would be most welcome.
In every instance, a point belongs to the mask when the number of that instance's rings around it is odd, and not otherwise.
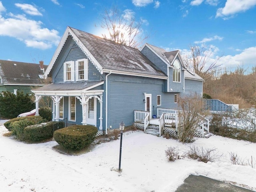
[[[92,97],[88,101],[87,124],[96,126],[97,122],[97,99]]]

